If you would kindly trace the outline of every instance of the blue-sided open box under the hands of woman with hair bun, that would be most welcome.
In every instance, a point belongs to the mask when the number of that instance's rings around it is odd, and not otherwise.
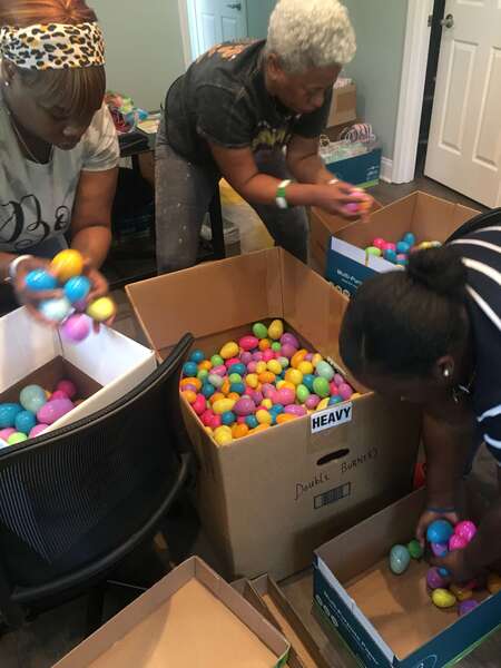
[[[409,542],[423,505],[421,490],[315,552],[315,605],[364,666],[440,668],[501,623],[501,593],[459,618],[455,608],[433,606],[425,561],[403,576],[390,571],[391,548]]]

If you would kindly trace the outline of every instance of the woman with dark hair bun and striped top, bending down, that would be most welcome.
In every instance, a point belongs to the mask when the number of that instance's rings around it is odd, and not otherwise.
[[[423,406],[422,542],[435,519],[459,521],[462,480],[482,442],[500,466],[501,491],[500,286],[501,227],[478,220],[442,248],[412,254],[406,271],[364,283],[344,317],[341,355],[353,375]],[[468,548],[434,560],[458,582],[500,562],[501,499]]]

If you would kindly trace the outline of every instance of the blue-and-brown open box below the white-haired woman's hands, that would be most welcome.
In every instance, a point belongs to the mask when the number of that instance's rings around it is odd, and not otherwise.
[[[425,193],[416,191],[358,222],[333,233],[327,257],[327,278],[346,296],[374,273],[390,272],[395,265],[365,253],[376,237],[399,242],[406,232],[416,242],[445,242],[463,223],[479,212]]]

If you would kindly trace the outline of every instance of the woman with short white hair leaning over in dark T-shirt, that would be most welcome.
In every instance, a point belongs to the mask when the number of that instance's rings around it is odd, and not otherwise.
[[[222,176],[303,262],[305,206],[350,218],[347,204],[371,205],[318,156],[333,86],[355,50],[338,0],[279,0],[267,40],[217,46],[173,85],[157,140],[160,273],[195,264]]]

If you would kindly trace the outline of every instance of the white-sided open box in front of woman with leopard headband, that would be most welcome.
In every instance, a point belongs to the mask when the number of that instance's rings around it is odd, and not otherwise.
[[[58,330],[39,324],[18,308],[0,318],[0,403],[18,402],[26,385],[53,390],[61,379],[75,382],[85,401],[43,433],[88,418],[117,401],[157,366],[155,353],[101,326],[79,344],[65,342]],[[22,446],[22,443],[21,443]]]

